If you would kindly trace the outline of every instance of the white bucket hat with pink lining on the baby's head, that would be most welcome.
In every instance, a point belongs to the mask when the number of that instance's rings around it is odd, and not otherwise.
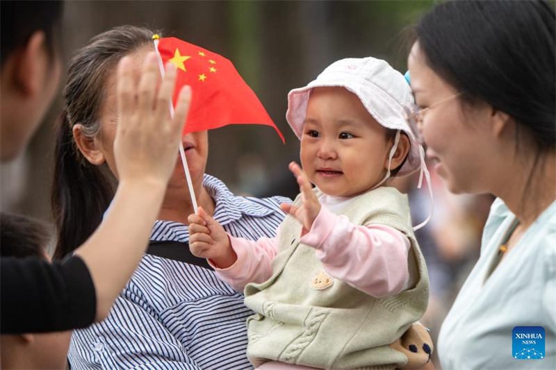
[[[314,87],[345,87],[356,94],[369,114],[379,124],[401,130],[409,137],[411,148],[398,176],[413,174],[420,169],[420,149],[404,119],[404,107],[414,102],[411,88],[404,76],[388,62],[376,58],[346,58],[329,65],[315,81],[288,94],[286,119],[301,139],[309,94]]]

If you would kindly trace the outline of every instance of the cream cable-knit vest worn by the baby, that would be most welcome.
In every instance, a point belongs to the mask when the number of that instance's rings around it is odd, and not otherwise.
[[[318,190],[315,190],[320,196]],[[294,204],[300,203],[297,196]],[[411,228],[407,196],[379,187],[349,203],[340,213],[353,224],[382,224],[400,230],[416,256],[418,283],[395,296],[375,298],[334,279],[326,289],[309,281],[325,271],[315,250],[299,243],[301,224],[288,216],[281,226],[272,277],[245,287],[247,355],[255,367],[268,360],[323,369],[393,369],[407,358],[388,346],[420,319],[427,308],[425,260]]]

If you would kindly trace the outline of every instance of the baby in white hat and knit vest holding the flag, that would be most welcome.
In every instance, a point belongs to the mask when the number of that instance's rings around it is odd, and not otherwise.
[[[407,363],[408,352],[389,344],[423,315],[429,285],[407,196],[387,185],[424,166],[403,116],[411,103],[404,77],[384,60],[334,62],[288,94],[302,164],[290,169],[301,194],[281,205],[288,217],[277,237],[238,239],[202,208],[190,215],[192,253],[245,290],[256,312],[247,319],[255,367]]]

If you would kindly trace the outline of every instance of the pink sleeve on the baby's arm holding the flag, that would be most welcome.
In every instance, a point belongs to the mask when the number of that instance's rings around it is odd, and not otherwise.
[[[211,260],[208,260],[208,263],[216,271],[220,280],[243,293],[245,285],[263,283],[272,276],[270,262],[278,254],[279,234],[280,228],[278,228],[276,237],[261,237],[256,242],[228,234],[231,247],[238,255],[236,263],[227,269],[219,269]]]

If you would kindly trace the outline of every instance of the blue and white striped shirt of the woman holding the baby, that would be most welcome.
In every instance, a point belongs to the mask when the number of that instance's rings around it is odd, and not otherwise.
[[[274,237],[289,199],[236,196],[205,175],[215,201],[213,217],[234,236]],[[188,227],[156,221],[151,240],[188,242]],[[117,246],[115,246],[117,248]],[[193,264],[143,255],[108,318],[74,330],[72,369],[252,369],[245,354],[243,295]]]

